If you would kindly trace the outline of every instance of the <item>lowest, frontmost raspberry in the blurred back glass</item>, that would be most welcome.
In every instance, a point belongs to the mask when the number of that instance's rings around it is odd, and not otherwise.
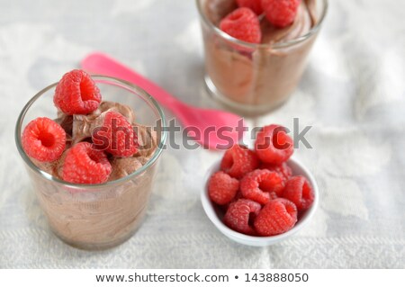
[[[233,38],[250,43],[260,43],[262,31],[257,14],[249,8],[238,8],[220,21],[220,30]]]

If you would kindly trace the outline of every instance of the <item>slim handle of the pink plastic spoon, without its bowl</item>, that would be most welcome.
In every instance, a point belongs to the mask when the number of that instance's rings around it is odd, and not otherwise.
[[[94,52],[82,60],[82,67],[91,73],[113,76],[126,80],[132,84],[139,85],[148,94],[151,94],[158,103],[166,109],[178,113],[177,105],[181,102],[175,96],[167,93],[163,88],[151,82],[144,76],[139,75],[129,67],[125,67],[115,59],[100,53]]]

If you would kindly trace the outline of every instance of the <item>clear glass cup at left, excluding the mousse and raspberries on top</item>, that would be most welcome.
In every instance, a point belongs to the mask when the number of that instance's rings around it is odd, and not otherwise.
[[[69,184],[41,170],[22,148],[21,135],[37,117],[56,118],[53,95],[57,84],[36,94],[23,108],[15,141],[50,228],[67,244],[82,249],[115,247],[139,228],[166,142],[166,120],[158,103],[138,86],[107,76],[93,76],[103,101],[130,106],[137,123],[156,130],[157,148],[148,162],[131,175],[105,184]]]

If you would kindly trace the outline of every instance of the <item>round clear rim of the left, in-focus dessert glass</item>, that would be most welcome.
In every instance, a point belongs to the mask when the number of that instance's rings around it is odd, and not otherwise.
[[[139,97],[141,97],[143,100],[145,100],[147,103],[151,103],[151,106],[156,109],[155,112],[157,112],[158,116],[160,117],[159,120],[162,121],[162,131],[161,131],[161,137],[160,137],[160,142],[157,143],[157,150],[155,151],[155,153],[153,154],[153,157],[149,158],[148,162],[140,167],[138,170],[136,170],[134,173],[130,174],[130,175],[126,175],[125,177],[122,177],[120,179],[111,181],[111,182],[107,182],[107,183],[103,183],[103,184],[72,184],[72,183],[68,183],[62,179],[59,179],[58,177],[55,177],[53,175],[49,175],[48,173],[42,171],[38,166],[36,166],[32,161],[31,158],[28,157],[28,155],[25,153],[25,151],[23,150],[23,145],[22,145],[22,140],[21,140],[21,135],[23,132],[23,120],[25,118],[26,113],[30,110],[31,105],[33,103],[35,103],[42,94],[45,94],[46,92],[48,92],[50,89],[56,87],[58,85],[58,83],[52,84],[52,85],[48,85],[47,87],[43,88],[42,90],[40,90],[40,92],[38,92],[37,94],[35,94],[31,100],[25,104],[25,106],[23,107],[22,112],[20,112],[20,115],[18,116],[16,125],[15,125],[15,131],[14,131],[14,139],[15,139],[15,143],[18,149],[18,152],[20,153],[20,156],[23,157],[24,162],[31,168],[31,170],[33,170],[37,175],[40,175],[41,177],[52,181],[52,182],[56,182],[58,184],[63,184],[66,185],[67,187],[73,188],[73,189],[80,189],[80,190],[88,190],[89,192],[91,190],[96,190],[99,189],[101,187],[108,187],[108,186],[114,186],[117,184],[122,184],[124,182],[129,181],[131,178],[136,177],[137,175],[141,175],[142,173],[144,173],[146,170],[148,170],[148,168],[150,166],[153,166],[153,164],[157,161],[157,158],[160,157],[161,153],[163,152],[163,147],[166,144],[166,139],[167,139],[167,130],[165,129],[166,127],[166,116],[165,116],[165,112],[163,112],[163,109],[160,107],[160,105],[157,103],[157,101],[155,100],[155,98],[153,96],[151,96],[150,94],[148,94],[148,92],[146,92],[144,89],[142,89],[141,87],[139,87],[138,85],[134,85],[128,81],[122,80],[120,78],[117,77],[113,77],[113,76],[103,76],[103,75],[91,75],[94,80],[97,79],[104,79],[104,80],[112,80],[117,82],[118,84],[121,85],[126,85],[127,87],[130,87],[131,90],[134,90],[135,92],[137,92],[137,95]]]

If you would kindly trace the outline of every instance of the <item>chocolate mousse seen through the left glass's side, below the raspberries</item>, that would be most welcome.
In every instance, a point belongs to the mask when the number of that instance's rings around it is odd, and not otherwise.
[[[138,162],[138,160],[136,161]],[[110,190],[92,192],[62,190],[58,184],[43,184],[31,172],[40,205],[52,230],[67,243],[86,249],[115,246],[138,229],[152,190],[156,166],[136,180],[116,184]]]

